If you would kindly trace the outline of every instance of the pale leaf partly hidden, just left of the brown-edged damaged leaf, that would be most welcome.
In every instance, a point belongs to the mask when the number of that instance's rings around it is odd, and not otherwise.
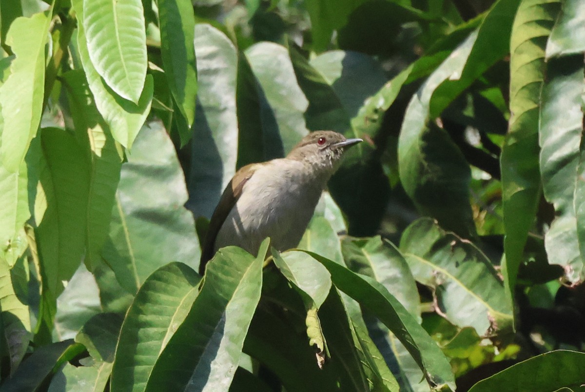
[[[420,320],[417,283],[400,251],[380,236],[346,237],[342,242],[343,259],[355,273],[369,276],[383,284],[406,310]]]

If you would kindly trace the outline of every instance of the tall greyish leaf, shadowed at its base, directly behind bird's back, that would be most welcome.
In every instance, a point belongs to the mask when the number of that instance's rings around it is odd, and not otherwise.
[[[207,24],[195,26],[195,51],[199,92],[187,208],[195,216],[211,218],[223,188],[236,172],[238,53],[228,37]]]

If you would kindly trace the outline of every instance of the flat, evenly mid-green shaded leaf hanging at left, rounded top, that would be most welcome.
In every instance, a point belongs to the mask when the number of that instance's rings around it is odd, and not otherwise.
[[[46,274],[43,290],[57,296],[84,255],[91,167],[87,151],[66,130],[43,129],[41,142],[46,166],[40,183],[47,209],[35,233]]]

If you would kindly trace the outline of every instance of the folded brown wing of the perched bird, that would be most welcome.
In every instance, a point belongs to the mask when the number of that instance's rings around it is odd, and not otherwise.
[[[218,236],[219,229],[221,229],[223,222],[228,218],[229,212],[232,211],[233,206],[236,205],[236,201],[240,198],[244,184],[246,184],[250,177],[252,177],[252,174],[254,174],[254,171],[256,171],[259,166],[260,164],[251,163],[242,167],[242,169],[238,170],[233,176],[232,181],[228,183],[228,186],[225,187],[225,190],[219,199],[219,203],[217,207],[215,207],[214,214],[211,216],[211,221],[209,221],[209,228],[201,252],[201,260],[199,261],[200,275],[205,273],[205,265],[212,257],[214,257],[215,239]]]

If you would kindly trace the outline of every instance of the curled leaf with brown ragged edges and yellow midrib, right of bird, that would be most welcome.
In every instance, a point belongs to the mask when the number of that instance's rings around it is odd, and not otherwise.
[[[512,309],[504,284],[473,243],[421,218],[402,234],[400,250],[415,279],[433,288],[437,311],[450,322],[473,326],[481,336],[488,330],[510,332]]]

